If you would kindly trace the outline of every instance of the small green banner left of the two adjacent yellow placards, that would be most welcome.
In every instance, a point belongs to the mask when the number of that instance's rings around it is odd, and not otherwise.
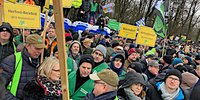
[[[109,27],[110,29],[119,31],[120,23],[119,23],[119,22],[116,22],[116,21],[113,20],[113,19],[110,19],[110,20],[108,21],[108,27]]]

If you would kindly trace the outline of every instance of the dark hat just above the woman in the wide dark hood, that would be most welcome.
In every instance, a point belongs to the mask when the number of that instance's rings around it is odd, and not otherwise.
[[[143,66],[142,66],[142,64],[139,63],[139,62],[132,62],[132,63],[128,66],[128,68],[132,68],[132,69],[134,69],[136,72],[142,73]]]

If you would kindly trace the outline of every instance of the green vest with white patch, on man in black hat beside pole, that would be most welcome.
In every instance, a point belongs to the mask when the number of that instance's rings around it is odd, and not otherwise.
[[[82,84],[76,91],[76,71],[73,71],[69,74],[69,94],[70,99],[72,100],[82,100],[83,97],[87,95],[87,93],[92,92],[94,89],[94,81],[89,79],[84,84]]]

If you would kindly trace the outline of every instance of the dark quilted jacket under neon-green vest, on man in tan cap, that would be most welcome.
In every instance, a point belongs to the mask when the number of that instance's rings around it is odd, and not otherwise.
[[[36,67],[39,65],[39,59],[31,59],[28,50],[26,48],[22,51],[22,71],[18,84],[18,90],[16,93],[16,97],[14,97],[9,90],[6,90],[6,98],[8,100],[17,100],[22,97],[22,90],[26,83],[32,80],[35,77]],[[12,80],[12,76],[15,72],[15,56],[10,55],[5,58],[0,67],[3,69],[2,77],[6,79],[6,87]]]

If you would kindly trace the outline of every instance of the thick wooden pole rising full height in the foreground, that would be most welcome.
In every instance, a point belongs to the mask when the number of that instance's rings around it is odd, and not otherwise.
[[[59,56],[60,73],[61,73],[62,97],[63,100],[69,100],[68,71],[66,62],[62,0],[53,0],[53,9],[54,9],[57,42],[58,42],[58,52],[59,52],[58,56]]]

